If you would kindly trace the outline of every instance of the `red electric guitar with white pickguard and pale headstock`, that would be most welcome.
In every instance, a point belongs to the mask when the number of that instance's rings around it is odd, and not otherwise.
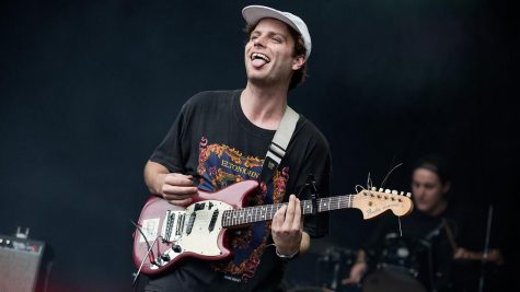
[[[244,207],[246,199],[258,188],[256,180],[235,183],[216,192],[199,190],[187,208],[150,196],[141,210],[134,232],[134,262],[140,272],[160,273],[185,257],[219,260],[231,256],[228,230],[245,224],[271,220],[286,203]],[[386,210],[395,215],[408,214],[413,209],[411,194],[375,188],[356,195],[301,200],[302,215],[331,210],[357,208],[363,219]]]

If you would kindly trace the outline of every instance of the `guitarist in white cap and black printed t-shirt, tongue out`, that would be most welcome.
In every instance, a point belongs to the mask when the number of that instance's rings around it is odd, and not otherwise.
[[[186,207],[198,189],[217,191],[257,179],[265,154],[287,107],[288,91],[303,81],[311,52],[304,22],[288,12],[250,5],[242,10],[249,40],[244,90],[201,92],[183,106],[173,127],[145,167],[152,194]],[[285,264],[309,249],[310,237],[328,232],[326,213],[303,218],[299,195],[313,175],[328,194],[330,148],[300,116],[287,153],[253,205],[288,201],[273,221],[246,226],[230,238],[233,257],[219,261],[186,258],[146,291],[278,291]]]

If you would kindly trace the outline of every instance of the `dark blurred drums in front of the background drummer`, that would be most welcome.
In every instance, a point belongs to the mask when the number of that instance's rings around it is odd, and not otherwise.
[[[358,285],[342,284],[356,262],[357,250],[328,247],[316,259],[316,285],[294,287],[288,292],[426,292],[430,255],[427,243],[388,236],[379,255]]]

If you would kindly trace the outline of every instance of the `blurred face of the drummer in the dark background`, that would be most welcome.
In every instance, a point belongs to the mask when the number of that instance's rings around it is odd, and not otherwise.
[[[412,192],[415,207],[430,215],[442,211],[447,203],[443,195],[449,190],[449,185],[443,185],[439,176],[429,170],[417,168],[412,176]]]

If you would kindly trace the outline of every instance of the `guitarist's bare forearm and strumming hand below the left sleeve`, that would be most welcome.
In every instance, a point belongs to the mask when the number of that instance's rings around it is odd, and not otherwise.
[[[145,183],[151,194],[158,195],[176,206],[187,206],[197,194],[192,175],[170,173],[170,171],[153,161],[145,166]]]

